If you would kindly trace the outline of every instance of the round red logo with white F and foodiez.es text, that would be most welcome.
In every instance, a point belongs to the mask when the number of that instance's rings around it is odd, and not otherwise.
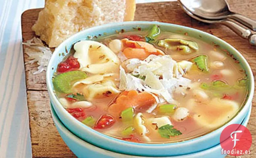
[[[221,132],[220,143],[221,154],[232,156],[251,154],[249,149],[252,145],[252,135],[245,126],[232,124]]]

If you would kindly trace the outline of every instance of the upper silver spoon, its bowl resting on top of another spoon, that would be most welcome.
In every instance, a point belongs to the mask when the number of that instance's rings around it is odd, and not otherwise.
[[[225,19],[231,18],[248,28],[256,31],[256,21],[247,18],[241,14],[231,12],[226,0],[178,0],[183,6],[201,18],[213,20],[213,19]]]

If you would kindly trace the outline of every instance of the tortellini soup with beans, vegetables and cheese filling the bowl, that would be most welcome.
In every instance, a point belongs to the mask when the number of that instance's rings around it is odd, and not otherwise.
[[[158,26],[75,43],[53,84],[70,115],[138,143],[209,133],[236,115],[248,90],[233,55]]]

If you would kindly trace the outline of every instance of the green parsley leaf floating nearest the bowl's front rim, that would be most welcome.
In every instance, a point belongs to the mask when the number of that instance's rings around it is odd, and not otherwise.
[[[173,125],[169,124],[160,127],[158,129],[158,133],[164,138],[170,138],[182,134],[179,130],[173,128]]]

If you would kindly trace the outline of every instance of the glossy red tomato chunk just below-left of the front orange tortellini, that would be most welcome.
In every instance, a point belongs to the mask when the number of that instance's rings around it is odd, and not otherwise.
[[[95,129],[106,129],[112,126],[115,123],[115,120],[110,115],[102,115],[94,126]]]

